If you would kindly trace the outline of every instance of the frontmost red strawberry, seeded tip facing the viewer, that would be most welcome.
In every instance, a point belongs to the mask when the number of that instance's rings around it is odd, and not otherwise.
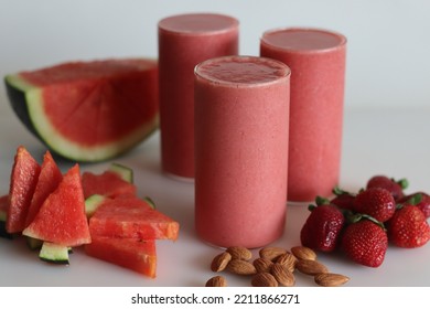
[[[385,230],[369,220],[361,220],[346,226],[342,248],[355,263],[378,267],[383,264],[388,248]]]

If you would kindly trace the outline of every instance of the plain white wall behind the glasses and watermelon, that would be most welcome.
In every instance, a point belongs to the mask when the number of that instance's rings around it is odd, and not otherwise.
[[[155,57],[158,21],[200,11],[240,21],[241,54],[257,55],[261,33],[272,28],[342,32],[347,107],[430,104],[427,0],[0,0],[0,75],[69,60]]]

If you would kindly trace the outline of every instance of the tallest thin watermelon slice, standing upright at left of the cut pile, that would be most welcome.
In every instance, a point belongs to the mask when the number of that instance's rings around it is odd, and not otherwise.
[[[19,233],[25,228],[40,172],[41,167],[30,152],[23,146],[18,147],[10,180],[10,206],[6,221],[8,233]]]

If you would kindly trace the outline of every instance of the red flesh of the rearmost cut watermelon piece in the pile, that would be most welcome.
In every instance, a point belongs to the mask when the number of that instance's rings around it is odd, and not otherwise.
[[[85,199],[100,194],[107,198],[119,195],[136,195],[137,188],[135,184],[125,181],[116,172],[105,171],[101,174],[84,172],[82,183]]]

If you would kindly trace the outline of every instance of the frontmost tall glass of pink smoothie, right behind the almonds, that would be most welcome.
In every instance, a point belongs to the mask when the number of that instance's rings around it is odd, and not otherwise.
[[[195,70],[195,227],[209,244],[265,246],[283,233],[290,70],[247,56]]]

